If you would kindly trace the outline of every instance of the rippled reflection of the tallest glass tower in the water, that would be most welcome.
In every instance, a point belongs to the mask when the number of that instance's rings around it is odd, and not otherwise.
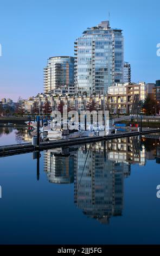
[[[104,159],[103,143],[82,147],[78,151],[74,200],[84,214],[108,223],[123,210],[124,169],[129,164]],[[129,173],[129,171],[128,171]]]

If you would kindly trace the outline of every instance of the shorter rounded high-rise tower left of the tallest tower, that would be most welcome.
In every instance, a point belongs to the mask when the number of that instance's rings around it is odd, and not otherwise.
[[[74,57],[51,57],[44,68],[44,93],[74,93]]]

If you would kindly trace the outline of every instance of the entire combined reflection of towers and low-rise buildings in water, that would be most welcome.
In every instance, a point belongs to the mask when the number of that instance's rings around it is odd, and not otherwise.
[[[140,137],[118,138],[87,144],[78,149],[52,149],[44,152],[44,171],[53,183],[74,181],[74,203],[88,217],[107,224],[123,213],[124,179],[131,165],[144,166],[146,159],[159,161],[155,146],[146,150]]]

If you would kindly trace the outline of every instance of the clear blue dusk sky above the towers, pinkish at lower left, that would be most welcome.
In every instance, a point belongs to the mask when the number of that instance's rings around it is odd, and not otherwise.
[[[124,60],[132,82],[160,79],[159,0],[3,0],[0,4],[0,99],[43,92],[43,68],[52,56],[74,56],[87,27],[108,20],[123,29]],[[1,49],[1,48],[0,48]]]

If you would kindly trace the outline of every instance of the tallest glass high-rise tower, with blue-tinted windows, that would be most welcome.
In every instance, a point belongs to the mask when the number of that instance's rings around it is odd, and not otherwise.
[[[109,21],[87,28],[75,41],[75,77],[81,93],[107,93],[123,83],[124,49],[121,29]]]

